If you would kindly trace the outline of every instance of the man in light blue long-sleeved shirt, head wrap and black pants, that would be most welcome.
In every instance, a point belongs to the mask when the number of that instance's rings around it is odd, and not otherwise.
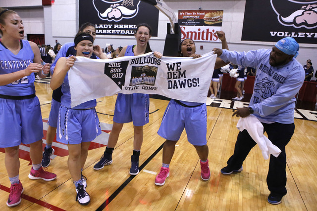
[[[278,41],[272,50],[259,49],[248,52],[236,52],[214,49],[224,61],[230,61],[244,67],[254,67],[257,75],[249,107],[237,108],[232,115],[256,116],[268,135],[268,139],[282,152],[275,158],[270,156],[266,182],[270,194],[267,201],[279,204],[286,195],[286,152],[294,125],[295,95],[305,79],[303,66],[295,59],[299,44],[290,37]],[[256,145],[247,130],[239,132],[234,153],[221,169],[223,174],[242,171],[242,164],[250,150]]]

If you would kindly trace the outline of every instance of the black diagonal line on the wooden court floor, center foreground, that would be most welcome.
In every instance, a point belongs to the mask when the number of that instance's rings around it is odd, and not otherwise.
[[[165,142],[164,142],[165,143]],[[139,171],[141,171],[158,153],[159,151],[163,148],[164,143],[159,146],[159,148],[139,167]],[[96,211],[102,211],[106,208],[106,206],[127,186],[131,180],[135,177],[136,175],[130,175],[129,178],[127,178],[120,187],[118,187],[107,199],[106,201],[99,207],[97,208]]]

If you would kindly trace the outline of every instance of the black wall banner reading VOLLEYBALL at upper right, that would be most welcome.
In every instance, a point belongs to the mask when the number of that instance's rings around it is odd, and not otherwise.
[[[242,41],[317,43],[317,0],[246,0]]]

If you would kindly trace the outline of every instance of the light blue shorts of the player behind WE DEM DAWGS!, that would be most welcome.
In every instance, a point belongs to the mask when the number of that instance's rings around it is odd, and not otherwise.
[[[159,127],[159,136],[178,141],[186,130],[189,143],[196,146],[207,144],[207,108],[206,104],[197,107],[184,107],[171,100],[165,110]]]

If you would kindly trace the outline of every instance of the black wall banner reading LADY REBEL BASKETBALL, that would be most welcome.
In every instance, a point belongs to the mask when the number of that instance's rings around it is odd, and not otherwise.
[[[158,36],[159,10],[141,0],[79,0],[79,25],[90,22],[97,35],[134,36],[136,25],[147,23]]]

